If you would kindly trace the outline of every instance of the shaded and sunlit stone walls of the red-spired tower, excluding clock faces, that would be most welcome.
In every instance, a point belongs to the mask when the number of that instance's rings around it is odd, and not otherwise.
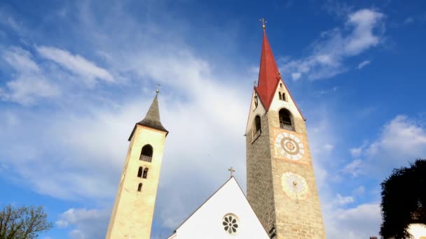
[[[274,129],[279,129],[277,111],[261,117],[262,133],[252,143],[247,135],[247,199],[266,231],[274,224],[277,239],[326,238],[320,199],[312,166],[305,122],[294,117],[296,133],[303,134],[307,164],[298,164],[275,157]],[[282,190],[284,172],[303,176],[309,187],[305,200],[293,200]]]

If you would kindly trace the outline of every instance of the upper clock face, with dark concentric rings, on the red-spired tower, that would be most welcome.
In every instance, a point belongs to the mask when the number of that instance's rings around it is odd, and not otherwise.
[[[282,157],[300,161],[305,154],[305,147],[300,138],[293,133],[281,132],[275,136],[275,147]]]

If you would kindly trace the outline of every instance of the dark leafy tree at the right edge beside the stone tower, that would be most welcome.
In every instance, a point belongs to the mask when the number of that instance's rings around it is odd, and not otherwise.
[[[408,226],[426,226],[426,159],[395,168],[382,182],[382,238],[411,238]]]

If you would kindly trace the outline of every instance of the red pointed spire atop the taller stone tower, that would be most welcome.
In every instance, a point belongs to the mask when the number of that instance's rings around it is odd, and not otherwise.
[[[266,110],[269,109],[277,84],[280,82],[280,78],[280,71],[278,71],[277,63],[275,62],[272,50],[270,49],[268,38],[266,37],[265,28],[263,28],[259,83],[255,89],[257,94],[259,94],[263,106],[265,106]]]

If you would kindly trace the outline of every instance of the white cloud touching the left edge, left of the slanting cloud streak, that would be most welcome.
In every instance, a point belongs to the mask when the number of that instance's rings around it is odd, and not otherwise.
[[[3,59],[15,70],[13,80],[6,82],[7,89],[0,88],[0,97],[30,105],[40,98],[54,98],[61,94],[60,88],[48,80],[32,59],[31,53],[22,48],[11,47]]]

